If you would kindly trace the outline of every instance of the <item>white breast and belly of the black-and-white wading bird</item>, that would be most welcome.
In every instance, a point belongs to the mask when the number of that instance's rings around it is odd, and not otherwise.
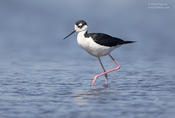
[[[86,50],[89,54],[93,56],[105,56],[116,48],[99,45],[96,42],[94,42],[91,37],[86,38],[84,36],[84,33],[85,32],[78,33],[77,42],[84,50]]]

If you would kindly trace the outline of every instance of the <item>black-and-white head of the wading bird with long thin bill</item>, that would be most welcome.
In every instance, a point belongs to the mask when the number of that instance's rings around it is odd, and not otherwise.
[[[87,23],[84,20],[79,20],[75,23],[74,30],[69,35],[67,35],[64,39],[68,38],[75,32],[87,31],[87,28],[88,28]]]

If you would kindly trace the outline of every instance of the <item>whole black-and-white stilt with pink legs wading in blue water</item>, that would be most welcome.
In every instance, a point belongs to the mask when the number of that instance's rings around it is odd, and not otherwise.
[[[102,75],[105,75],[105,78],[106,78],[105,84],[108,84],[107,73],[120,69],[119,63],[111,56],[110,52],[113,51],[115,48],[120,47],[123,44],[133,43],[135,41],[124,41],[122,39],[112,37],[110,35],[103,34],[103,33],[88,33],[87,29],[88,29],[88,26],[84,20],[77,21],[75,23],[74,31],[70,33],[68,36],[66,36],[64,39],[68,38],[74,32],[78,32],[78,36],[77,36],[78,44],[84,50],[86,50],[90,55],[96,56],[98,58],[104,71],[104,73],[101,73],[94,77],[91,85],[94,85],[97,78]],[[105,70],[100,57],[106,56],[106,55],[109,55],[109,57],[114,61],[114,63],[117,65],[116,68],[111,69],[109,71]]]

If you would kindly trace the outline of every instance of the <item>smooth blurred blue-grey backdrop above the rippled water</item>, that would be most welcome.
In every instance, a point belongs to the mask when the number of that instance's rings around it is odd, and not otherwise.
[[[174,55],[174,4],[173,0],[1,0],[1,59],[78,51],[76,35],[67,41],[62,38],[80,19],[87,21],[89,32],[137,41],[123,50],[134,50],[138,58],[166,58]]]

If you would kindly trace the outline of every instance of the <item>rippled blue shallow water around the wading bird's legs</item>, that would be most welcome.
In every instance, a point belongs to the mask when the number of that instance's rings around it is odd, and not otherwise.
[[[162,60],[131,66],[123,59],[121,69],[109,74],[109,87],[101,77],[92,88],[100,65],[80,59],[1,63],[1,117],[174,117],[175,74]]]

